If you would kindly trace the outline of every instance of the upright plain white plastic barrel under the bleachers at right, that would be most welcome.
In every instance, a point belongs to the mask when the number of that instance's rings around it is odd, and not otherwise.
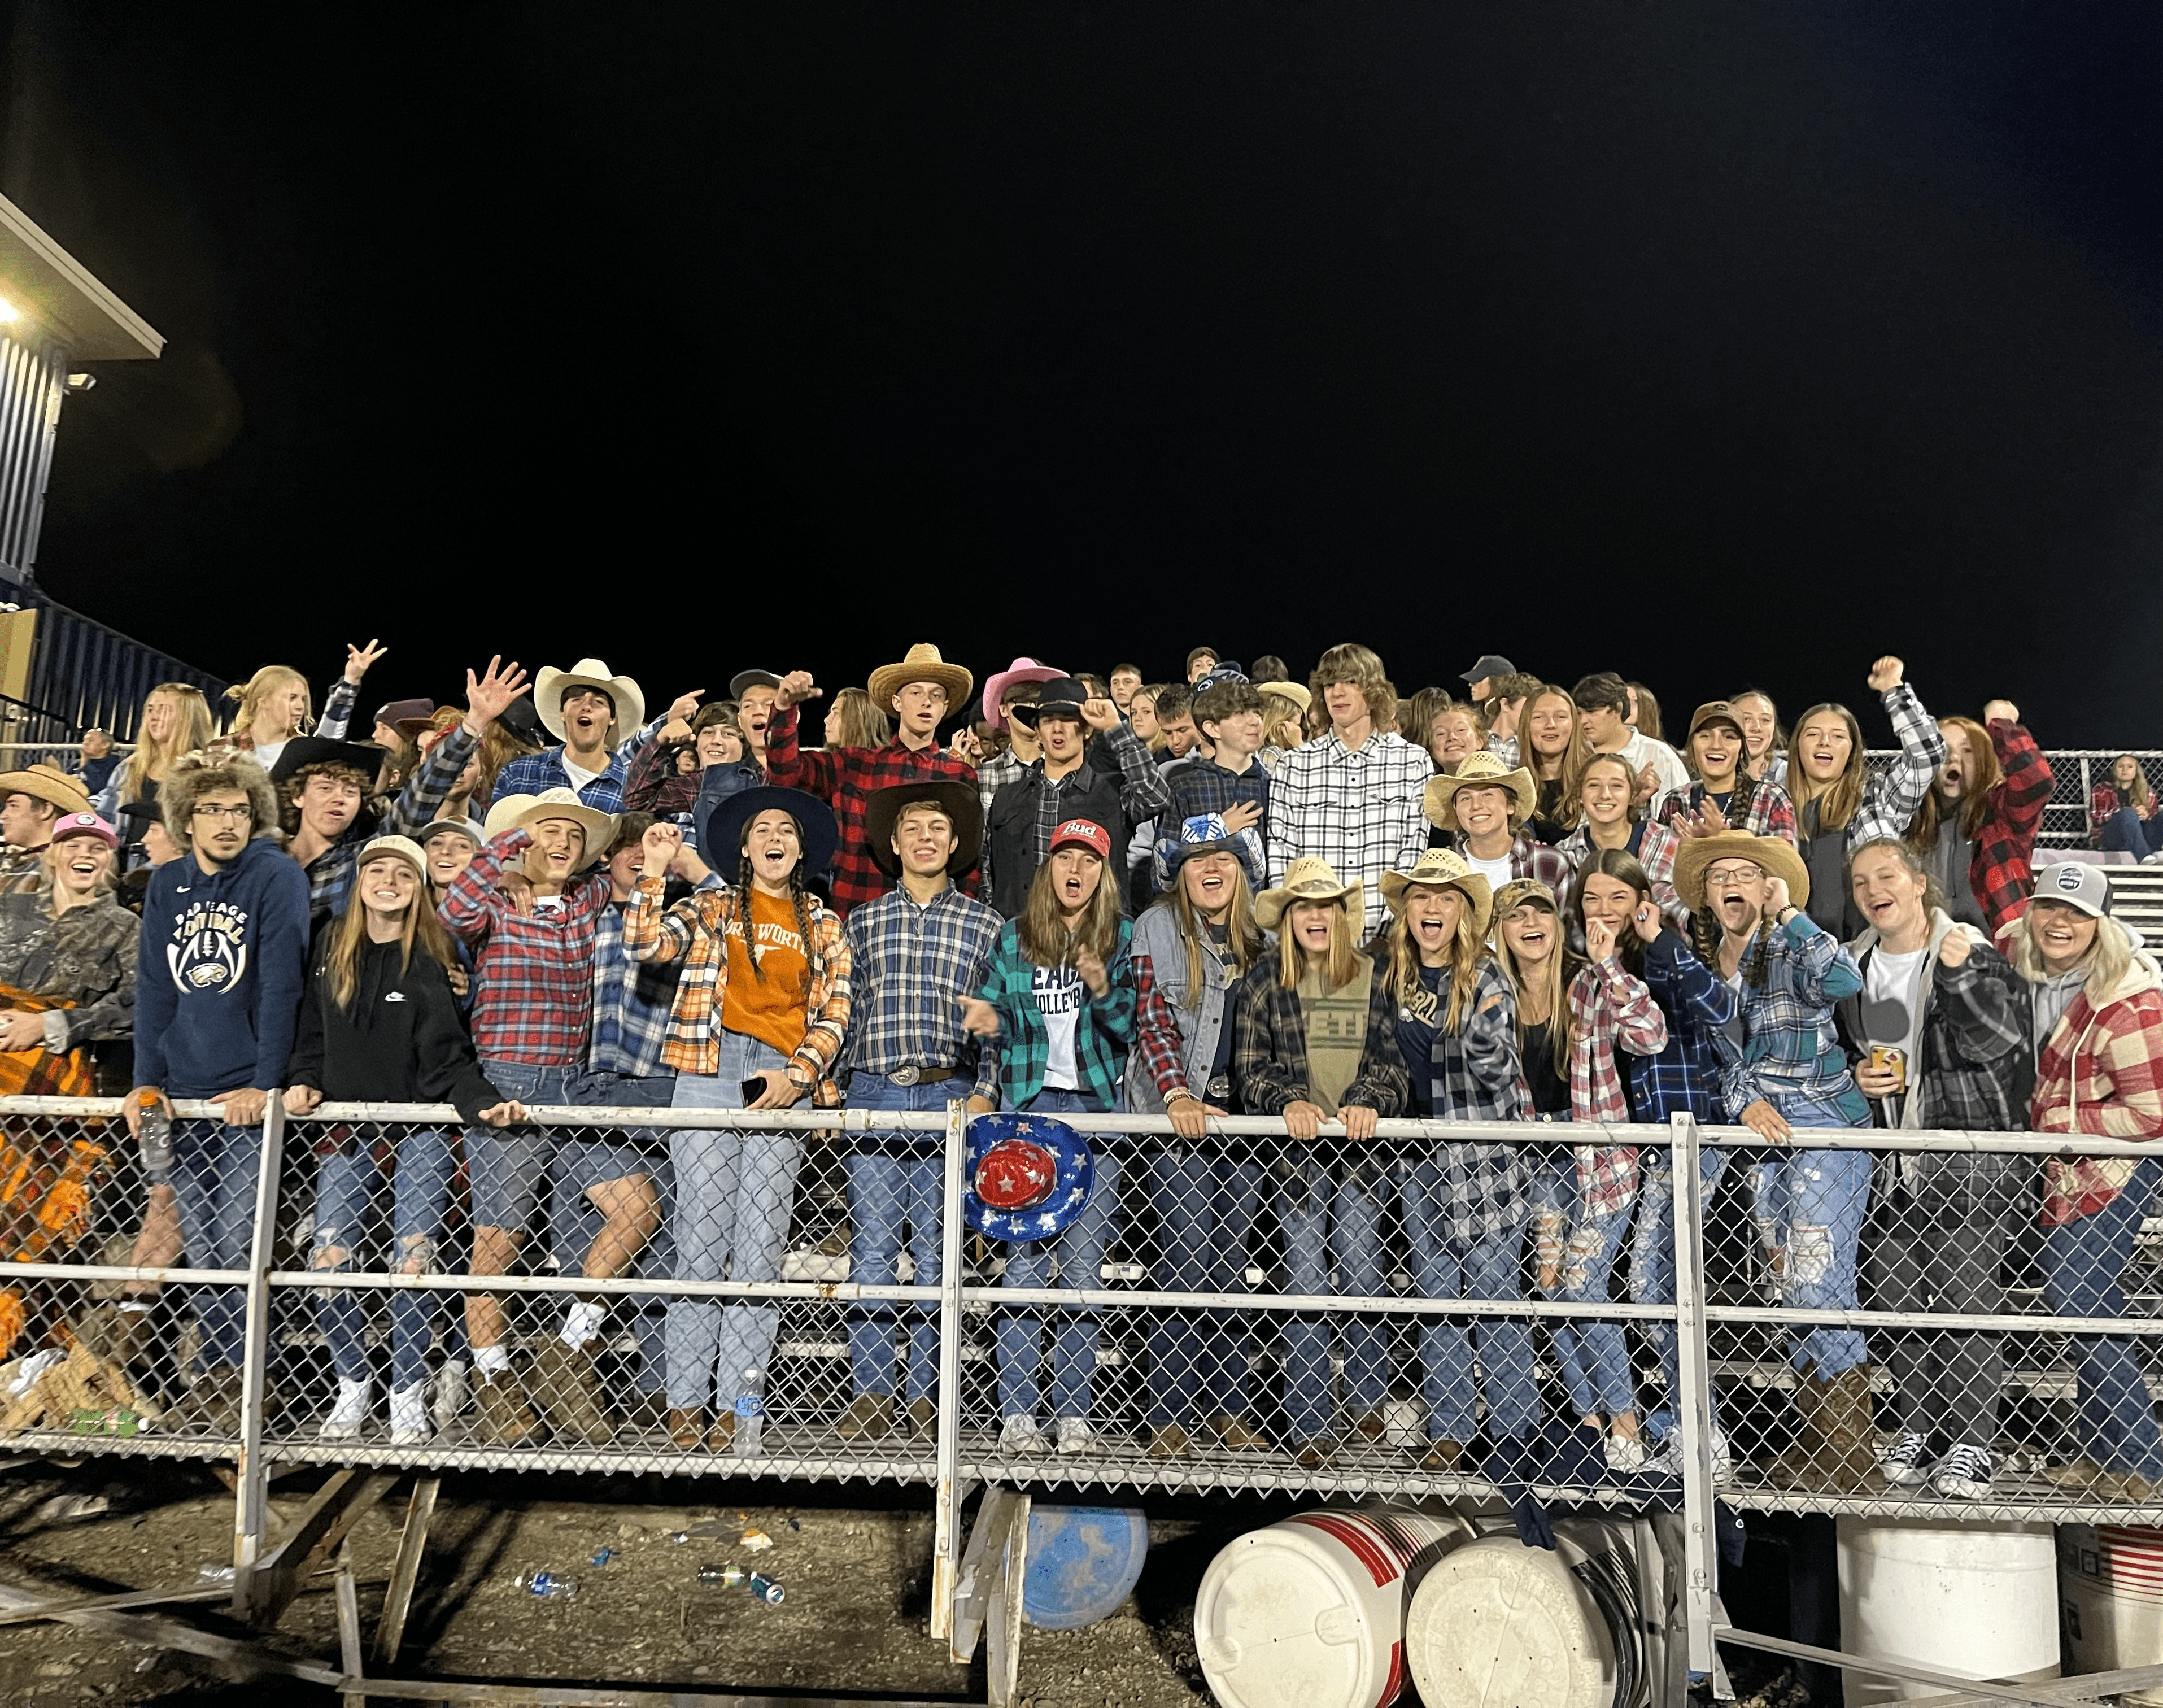
[[[1841,1647],[1953,1678],[2057,1678],[2057,1552],[2048,1524],[1841,1518]],[[1942,1695],[1843,1673],[1847,1708]]]

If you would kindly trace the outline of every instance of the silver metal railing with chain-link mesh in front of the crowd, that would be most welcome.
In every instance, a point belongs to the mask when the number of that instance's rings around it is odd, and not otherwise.
[[[242,1593],[264,1554],[264,1487],[279,1462],[915,1481],[937,1492],[941,1572],[956,1561],[960,1498],[993,1481],[1404,1498],[1531,1492],[1564,1505],[1681,1509],[1698,1665],[1713,1619],[1715,1496],[1880,1518],[2163,1522],[2163,1472],[2131,1475],[2150,1466],[2150,1397],[2163,1392],[2163,1364],[2150,1356],[2163,1351],[2163,1235],[2146,1217],[2157,1163],[2139,1144],[1800,1129],[1782,1148],[1746,1129],[1700,1133],[1687,1118],[1672,1129],[1386,1120],[1363,1144],[1341,1129],[1302,1144],[1278,1120],[1226,1118],[1190,1144],[1162,1116],[1073,1116],[1097,1152],[1101,1217],[1094,1232],[1045,1250],[969,1230],[960,1105],[757,1116],[547,1107],[519,1129],[545,1152],[526,1258],[517,1273],[476,1276],[476,1139],[454,1167],[459,1120],[446,1107],[324,1105],[290,1118],[273,1100],[257,1129],[227,1129],[214,1109],[182,1105],[164,1178],[145,1172],[119,1113],[117,1100],[0,1100],[0,1449],[234,1462]],[[707,1237],[688,1204],[712,1185],[699,1170],[712,1161],[748,1180],[746,1135],[774,1148],[774,1191],[731,1213],[725,1239],[744,1271],[694,1280],[688,1247]],[[1428,1219],[1449,1202],[1432,1170],[1469,1159],[1464,1146],[1499,1146],[1527,1163],[1529,1198],[1501,1217],[1503,1256],[1484,1284],[1438,1280],[1449,1265],[1471,1265],[1479,1235],[1438,1235]],[[1575,1193],[1588,1146],[1637,1150],[1635,1187],[1611,1211],[1635,1239],[1603,1228]],[[2061,1228],[2038,1230],[2040,1170],[2068,1157],[2146,1165],[2111,1224],[2118,1243],[2068,1250]],[[876,1198],[889,1161],[917,1165],[915,1211],[937,1222],[913,1226],[913,1239]],[[1845,1198],[1776,1206],[1776,1187],[1810,1193],[1843,1174]],[[649,1237],[610,1267],[595,1254],[616,1250],[608,1237],[625,1180],[651,1185],[632,1217]],[[441,1187],[433,1200],[430,1183]],[[1216,1219],[1183,1226],[1198,1204]],[[1549,1206],[1560,1226],[1542,1222]],[[753,1213],[781,1230],[772,1273],[744,1258],[757,1245],[744,1235]],[[2105,1215],[2076,1232],[2100,1239]],[[420,1224],[435,1260],[394,1273],[409,1250],[400,1237]],[[1862,1254],[1860,1293],[1843,1293],[1836,1273],[1826,1291],[1823,1258],[1841,1267],[1841,1237],[1821,1237],[1834,1224],[1847,1228],[1847,1263]],[[874,1226],[887,1226],[883,1243]],[[216,1263],[188,1267],[184,1232],[223,1241],[210,1252]],[[1988,1250],[1990,1273],[1970,1276],[1983,1291],[1966,1304],[1992,1308],[1953,1308],[1942,1278],[1936,1295],[1901,1282],[1901,1308],[1880,1308],[1893,1286],[1880,1258],[1906,1247],[1932,1260]],[[913,1273],[898,1260],[908,1250]],[[353,1267],[322,1267],[340,1252]],[[1175,1273],[1196,1252],[1213,1267]],[[1618,1260],[1614,1284],[1603,1254]],[[1544,1289],[1542,1256],[1557,1258]],[[1661,1256],[1672,1286],[1653,1273]],[[1579,1258],[1590,1280],[1573,1267]],[[1077,1271],[1053,1280],[1053,1260]],[[932,1263],[937,1273],[926,1273]],[[504,1310],[495,1345],[513,1356],[532,1433],[506,1436],[474,1377],[454,1379],[476,1362],[478,1330],[469,1319],[461,1338],[452,1312],[426,1310],[448,1306],[446,1295]],[[571,1343],[556,1312],[580,1302],[599,1306],[588,1315],[601,1321]],[[675,1356],[699,1345],[694,1330],[712,1327],[716,1306],[725,1325],[731,1308],[777,1310],[761,1330],[766,1438],[755,1453],[709,1433],[720,1410],[701,1410],[694,1440],[673,1438],[690,1410],[675,1403],[688,1401]],[[123,1319],[132,1323],[117,1330]],[[1631,1332],[1642,1347],[1629,1345]],[[1666,1334],[1672,1375],[1661,1371]],[[1852,1347],[1862,1375],[1834,1416],[1836,1384],[1823,1377],[1841,1334],[1867,1347]],[[655,1345],[664,1371],[653,1369]],[[381,1373],[385,1351],[409,1373],[426,1371],[426,1425],[398,1440],[376,1401],[353,1427],[327,1429],[340,1360]],[[1955,1401],[1981,1405],[1983,1423],[1966,1433],[1988,1433],[1970,1444],[1996,1462],[1981,1490],[1886,1481],[1906,1475],[1903,1423],[1936,1427],[1927,1412],[1942,1395],[1908,1392],[1929,1386],[1916,1356],[1968,1360]],[[2105,1451],[2074,1405],[2094,1401],[2105,1356],[2141,1384],[2137,1397],[2118,1395],[2133,1438],[2146,1416],[2148,1449],[2135,1440],[2131,1459],[2113,1457],[2124,1442]],[[705,1360],[712,1366],[712,1349]],[[1190,1386],[1177,1388],[1170,1371]],[[1030,1392],[1038,1382],[1058,1392]],[[863,1407],[880,1384],[891,1405]],[[1611,1446],[1622,1433],[1618,1395],[1642,1436],[1655,1418],[1666,1425],[1663,1457],[1635,1466]],[[709,1399],[727,1407],[727,1373]],[[913,1418],[906,1399],[926,1401],[924,1414]],[[1529,1420],[1512,1420],[1527,1399]],[[1436,1407],[1460,1401],[1464,1438],[1443,1449]],[[1017,1444],[1006,1423],[1023,1403],[1038,1425],[1079,1418],[1088,1431]],[[1298,1427],[1302,1410],[1322,1418],[1322,1446]],[[1224,1418],[1244,1429],[1224,1429]],[[1932,1444],[1919,1470],[1951,1459],[1951,1444]],[[2098,1457],[2102,1481],[2068,1487],[2046,1475],[2085,1455]]]

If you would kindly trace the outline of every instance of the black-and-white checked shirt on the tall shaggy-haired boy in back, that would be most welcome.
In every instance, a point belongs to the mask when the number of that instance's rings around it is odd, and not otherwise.
[[[1410,871],[1428,845],[1421,800],[1434,761],[1402,735],[1369,735],[1358,752],[1337,731],[1276,761],[1270,780],[1270,882],[1319,854],[1341,882],[1365,884],[1367,934],[1389,923],[1382,873]]]

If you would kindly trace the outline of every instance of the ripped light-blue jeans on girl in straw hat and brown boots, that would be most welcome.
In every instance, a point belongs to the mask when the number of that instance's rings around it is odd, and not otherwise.
[[[1802,1139],[1804,1122],[1787,1111]],[[1832,1126],[1834,1122],[1817,1122]],[[1774,1150],[1750,1165],[1759,1239],[1782,1250],[1780,1304],[1789,1310],[1856,1310],[1856,1252],[1871,1209],[1871,1152],[1867,1150]],[[1830,1382],[1869,1362],[1862,1330],[1789,1330],[1789,1362],[1797,1371],[1817,1366]]]

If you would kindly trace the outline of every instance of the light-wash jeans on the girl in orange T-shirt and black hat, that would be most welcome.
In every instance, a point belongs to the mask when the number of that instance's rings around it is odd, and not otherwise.
[[[738,1109],[742,1081],[783,1066],[772,1044],[738,1031],[716,1036],[720,1070],[677,1075],[677,1109]],[[668,1137],[677,1280],[781,1280],[802,1155],[800,1133],[679,1126]],[[668,1405],[688,1412],[716,1395],[720,1405],[733,1405],[746,1371],[764,1379],[779,1332],[779,1302],[671,1299]]]

